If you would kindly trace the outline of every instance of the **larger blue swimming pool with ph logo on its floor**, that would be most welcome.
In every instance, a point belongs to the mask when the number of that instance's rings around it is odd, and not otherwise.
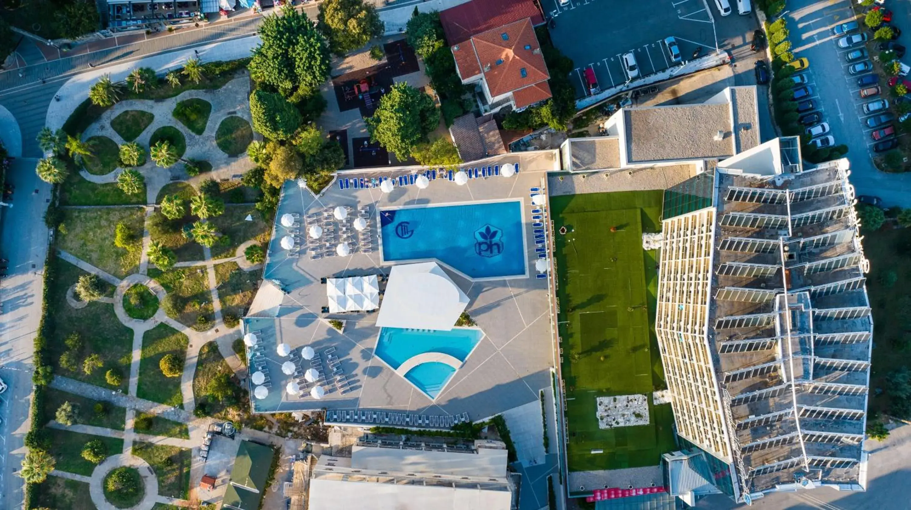
[[[522,203],[469,203],[380,211],[383,259],[435,258],[472,278],[525,275]]]

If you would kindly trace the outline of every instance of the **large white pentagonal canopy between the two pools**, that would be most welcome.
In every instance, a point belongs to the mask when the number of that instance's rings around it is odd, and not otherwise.
[[[468,297],[435,262],[394,265],[376,326],[448,331],[467,306]]]

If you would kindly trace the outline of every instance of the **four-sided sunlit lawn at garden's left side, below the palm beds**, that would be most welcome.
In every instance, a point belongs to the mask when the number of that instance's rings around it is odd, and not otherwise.
[[[146,212],[140,207],[67,209],[63,221],[66,234],[58,234],[57,247],[123,278],[138,271],[145,221]],[[119,223],[127,224],[136,236],[136,243],[128,250],[114,245],[114,228]]]

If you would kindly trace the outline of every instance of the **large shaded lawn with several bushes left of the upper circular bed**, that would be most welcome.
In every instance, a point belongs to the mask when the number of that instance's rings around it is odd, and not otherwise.
[[[56,258],[52,262],[56,276],[47,289],[46,307],[51,311],[47,315],[47,345],[50,358],[55,360],[54,371],[102,388],[111,388],[105,380],[107,369],[118,369],[123,376],[119,389],[127,390],[129,364],[133,355],[133,330],[120,324],[114,315],[114,307],[107,303],[93,302],[87,307],[76,309],[67,304],[67,287],[76,283],[80,275],[86,273],[77,266]],[[70,371],[60,367],[57,361],[67,351],[64,338],[70,333],[78,333],[84,343],[77,356],[80,367]],[[89,354],[98,354],[104,361],[104,367],[96,369],[91,375],[82,371],[82,360]]]

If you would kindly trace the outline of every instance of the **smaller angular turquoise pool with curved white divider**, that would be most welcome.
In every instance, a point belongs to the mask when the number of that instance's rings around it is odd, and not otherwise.
[[[481,338],[477,328],[380,328],[374,354],[433,400]]]

